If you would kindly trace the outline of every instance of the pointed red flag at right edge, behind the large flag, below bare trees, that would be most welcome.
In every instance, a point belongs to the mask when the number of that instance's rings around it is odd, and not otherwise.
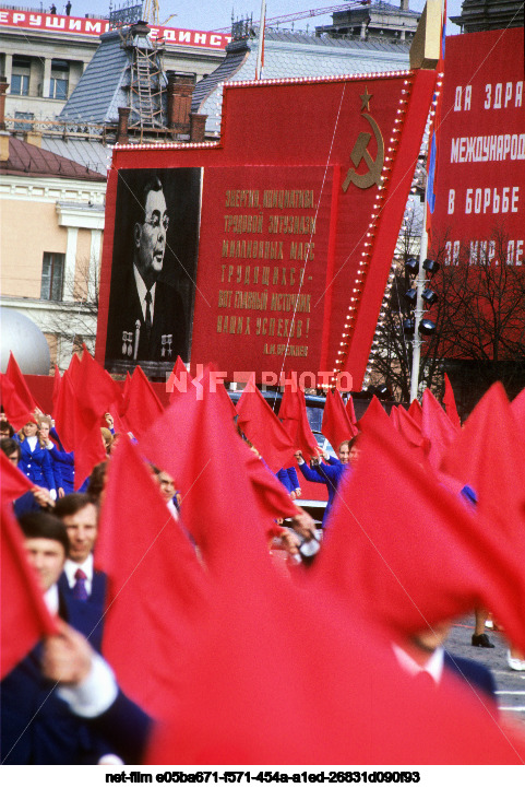
[[[525,448],[503,386],[494,384],[468,416],[442,469],[472,486],[479,510],[514,538],[525,534]]]

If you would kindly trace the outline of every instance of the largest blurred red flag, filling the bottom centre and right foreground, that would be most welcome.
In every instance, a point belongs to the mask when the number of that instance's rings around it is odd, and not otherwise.
[[[390,501],[395,509],[396,496]],[[275,572],[253,539],[254,517],[243,502],[236,561],[215,575],[200,638],[186,644],[191,660],[176,708],[156,728],[148,763],[520,762],[523,734],[502,736],[466,691],[449,684],[421,693],[390,643],[348,612],[337,584],[333,593],[318,583],[299,590]],[[346,549],[344,562],[351,575]]]

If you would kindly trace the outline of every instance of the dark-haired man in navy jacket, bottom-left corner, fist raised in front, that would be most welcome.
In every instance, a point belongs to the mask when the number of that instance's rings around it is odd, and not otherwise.
[[[73,628],[79,621],[82,626],[82,602],[65,599],[58,588],[69,546],[62,524],[47,513],[28,513],[21,526],[46,604],[61,622],[60,635],[39,643],[0,685],[1,763],[140,763],[150,719],[122,695],[109,666]]]

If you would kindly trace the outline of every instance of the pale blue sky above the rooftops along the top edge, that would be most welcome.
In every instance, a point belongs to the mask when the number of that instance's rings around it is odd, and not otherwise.
[[[398,0],[390,0],[398,4]],[[36,5],[36,3],[33,3]],[[40,3],[44,10],[49,10],[47,2]],[[65,0],[56,0],[58,13],[64,13]],[[110,0],[71,0],[71,15],[84,16],[90,13],[104,17],[108,14]],[[112,9],[123,7],[123,0],[112,0]],[[131,4],[134,4],[133,2]],[[152,4],[152,3],[150,3]],[[286,14],[308,12],[313,9],[331,8],[333,5],[346,4],[343,0],[266,0],[266,19],[275,19]],[[420,11],[425,0],[409,0],[411,11]],[[448,16],[456,16],[461,13],[462,0],[449,0]],[[231,25],[231,13],[235,19],[253,15],[253,21],[261,16],[261,0],[159,0],[159,22],[168,27],[181,27],[184,30],[213,31],[224,30],[228,32]],[[171,19],[169,19],[171,16]],[[332,14],[310,16],[294,22],[295,30],[310,31],[315,26],[331,24]],[[283,26],[283,25],[282,25]],[[286,25],[291,27],[291,23]],[[460,28],[449,23],[448,34],[460,33]]]

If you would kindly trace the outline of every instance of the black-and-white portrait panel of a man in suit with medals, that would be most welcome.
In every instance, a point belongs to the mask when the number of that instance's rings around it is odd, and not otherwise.
[[[106,367],[189,360],[200,169],[119,170]],[[153,365],[153,366],[152,366]]]

